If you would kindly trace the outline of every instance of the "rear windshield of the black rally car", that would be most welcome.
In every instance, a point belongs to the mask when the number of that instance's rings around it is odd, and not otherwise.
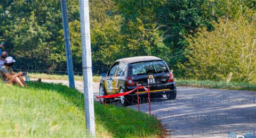
[[[169,72],[166,64],[163,61],[138,62],[132,65],[132,75],[145,75],[150,73],[165,73]]]

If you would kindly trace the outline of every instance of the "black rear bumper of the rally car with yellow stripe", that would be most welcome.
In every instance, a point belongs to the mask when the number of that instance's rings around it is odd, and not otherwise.
[[[147,85],[144,87],[148,88]],[[136,86],[132,87],[126,87],[127,91],[135,89]],[[151,84],[149,85],[150,89],[150,96],[157,96],[157,95],[163,95],[163,94],[170,94],[170,93],[176,93],[176,84],[175,82],[168,82],[166,84]],[[145,89],[139,89],[139,96],[140,97],[147,97],[148,92],[145,91]],[[128,97],[137,97],[137,90],[132,92],[131,94],[127,95]]]

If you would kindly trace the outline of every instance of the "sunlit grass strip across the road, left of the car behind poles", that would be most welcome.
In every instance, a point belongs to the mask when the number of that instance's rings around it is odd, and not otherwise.
[[[59,75],[59,74],[45,74],[45,73],[29,73],[28,74],[31,79],[45,79],[45,80],[64,80],[68,81],[68,75]],[[83,76],[75,75],[75,81],[83,81]],[[93,82],[100,82],[102,76],[93,75]]]

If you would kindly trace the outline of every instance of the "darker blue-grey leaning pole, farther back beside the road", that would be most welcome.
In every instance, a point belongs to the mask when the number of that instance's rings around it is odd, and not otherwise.
[[[74,80],[73,61],[72,61],[71,47],[70,47],[70,36],[69,36],[69,28],[68,28],[68,13],[67,13],[66,0],[60,0],[60,5],[61,5],[62,23],[63,23],[67,66],[68,66],[67,70],[68,70],[69,87],[75,89],[75,80]]]

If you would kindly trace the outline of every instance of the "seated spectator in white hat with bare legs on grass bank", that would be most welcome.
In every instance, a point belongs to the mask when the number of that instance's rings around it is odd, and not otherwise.
[[[14,73],[11,66],[15,63],[15,60],[12,57],[7,57],[4,62],[4,66],[0,68],[0,78],[9,84],[17,84],[21,87],[27,87],[26,82],[21,76],[23,72]]]

